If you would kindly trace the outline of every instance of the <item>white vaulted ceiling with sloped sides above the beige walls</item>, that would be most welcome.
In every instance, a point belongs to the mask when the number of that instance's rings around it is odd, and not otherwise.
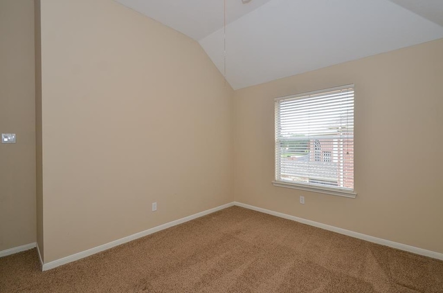
[[[199,41],[224,73],[223,0],[116,0]],[[226,79],[244,88],[443,38],[443,0],[226,0]]]

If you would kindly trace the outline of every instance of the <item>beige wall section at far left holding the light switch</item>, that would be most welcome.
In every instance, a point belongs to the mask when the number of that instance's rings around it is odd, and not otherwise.
[[[34,2],[0,1],[0,251],[35,243]]]

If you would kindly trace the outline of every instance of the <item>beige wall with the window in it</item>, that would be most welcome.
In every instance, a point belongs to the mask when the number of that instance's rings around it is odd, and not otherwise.
[[[440,39],[235,91],[235,200],[442,253],[442,80]],[[357,197],[274,187],[273,98],[345,84]]]

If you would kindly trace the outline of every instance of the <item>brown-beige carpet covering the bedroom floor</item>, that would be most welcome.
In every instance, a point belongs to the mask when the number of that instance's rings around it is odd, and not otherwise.
[[[0,258],[0,292],[443,292],[443,262],[230,207],[39,272]]]

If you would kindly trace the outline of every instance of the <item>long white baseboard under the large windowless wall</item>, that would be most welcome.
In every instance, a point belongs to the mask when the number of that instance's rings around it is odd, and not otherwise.
[[[106,243],[104,245],[93,247],[91,249],[85,250],[84,252],[78,252],[77,254],[72,254],[70,256],[66,256],[64,258],[60,258],[60,259],[57,259],[55,261],[51,261],[50,263],[42,263],[42,270],[43,271],[51,270],[54,267],[58,267],[60,265],[65,265],[66,263],[71,263],[73,261],[78,261],[79,259],[85,258],[87,256],[91,256],[92,254],[96,254],[98,252],[102,252],[102,251],[107,250],[109,248],[116,247],[117,245],[121,245],[123,243],[127,243],[129,241],[136,240],[137,238],[141,238],[141,237],[153,234],[155,232],[158,232],[158,231],[161,231],[161,230],[164,230],[164,229],[168,229],[170,227],[173,227],[173,226],[176,226],[176,225],[179,225],[179,224],[182,224],[182,223],[186,223],[186,222],[188,222],[190,220],[194,220],[195,218],[199,218],[201,216],[206,216],[208,214],[212,214],[215,211],[219,211],[221,209],[226,209],[226,207],[232,207],[233,205],[234,205],[234,203],[230,202],[230,203],[227,203],[226,205],[221,205],[221,206],[215,207],[213,209],[208,209],[206,211],[201,211],[201,212],[199,212],[197,214],[193,214],[191,216],[187,216],[187,217],[181,218],[179,220],[173,220],[170,223],[165,223],[163,225],[160,225],[160,226],[157,226],[157,227],[154,227],[154,228],[151,228],[151,229],[147,229],[145,231],[141,231],[141,232],[138,232],[136,234],[132,234],[130,236],[127,236],[127,237],[124,237],[124,238],[120,238],[118,240],[111,241],[111,242]]]

